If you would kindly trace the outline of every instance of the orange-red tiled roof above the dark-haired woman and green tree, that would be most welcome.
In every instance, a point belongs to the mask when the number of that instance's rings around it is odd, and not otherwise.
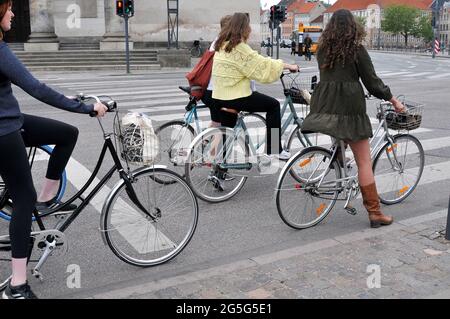
[[[421,10],[430,9],[433,0],[338,0],[327,9],[327,13],[336,12],[339,9],[348,9],[350,11],[364,10],[371,4],[380,3],[382,8],[392,5],[407,5]]]

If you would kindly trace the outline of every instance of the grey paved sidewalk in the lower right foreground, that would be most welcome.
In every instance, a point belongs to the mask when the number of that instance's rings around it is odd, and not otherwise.
[[[447,211],[439,211],[177,277],[97,291],[91,298],[450,298],[446,216]]]

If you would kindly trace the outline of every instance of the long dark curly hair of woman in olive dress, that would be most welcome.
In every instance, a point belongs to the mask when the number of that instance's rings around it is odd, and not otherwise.
[[[324,56],[322,69],[332,69],[356,61],[358,50],[366,36],[363,26],[346,9],[336,11],[319,40],[318,54]]]

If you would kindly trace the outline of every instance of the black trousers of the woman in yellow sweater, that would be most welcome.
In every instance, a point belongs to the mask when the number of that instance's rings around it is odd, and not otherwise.
[[[237,111],[247,112],[265,112],[266,113],[266,152],[272,154],[272,149],[278,149],[281,152],[281,115],[280,102],[273,97],[259,92],[253,92],[252,95],[236,100],[216,100],[216,105],[220,108],[230,108]],[[234,127],[236,125],[237,115],[228,112],[221,112],[221,123],[223,126]],[[272,139],[272,134],[278,135],[278,138]],[[275,151],[276,152],[276,151]]]

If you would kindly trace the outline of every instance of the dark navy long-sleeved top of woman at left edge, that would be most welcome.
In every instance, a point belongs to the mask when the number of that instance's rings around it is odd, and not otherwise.
[[[0,41],[0,136],[22,127],[23,118],[19,103],[13,95],[11,83],[36,99],[75,113],[90,113],[93,105],[68,99],[63,94],[39,82],[17,59],[4,41]]]

